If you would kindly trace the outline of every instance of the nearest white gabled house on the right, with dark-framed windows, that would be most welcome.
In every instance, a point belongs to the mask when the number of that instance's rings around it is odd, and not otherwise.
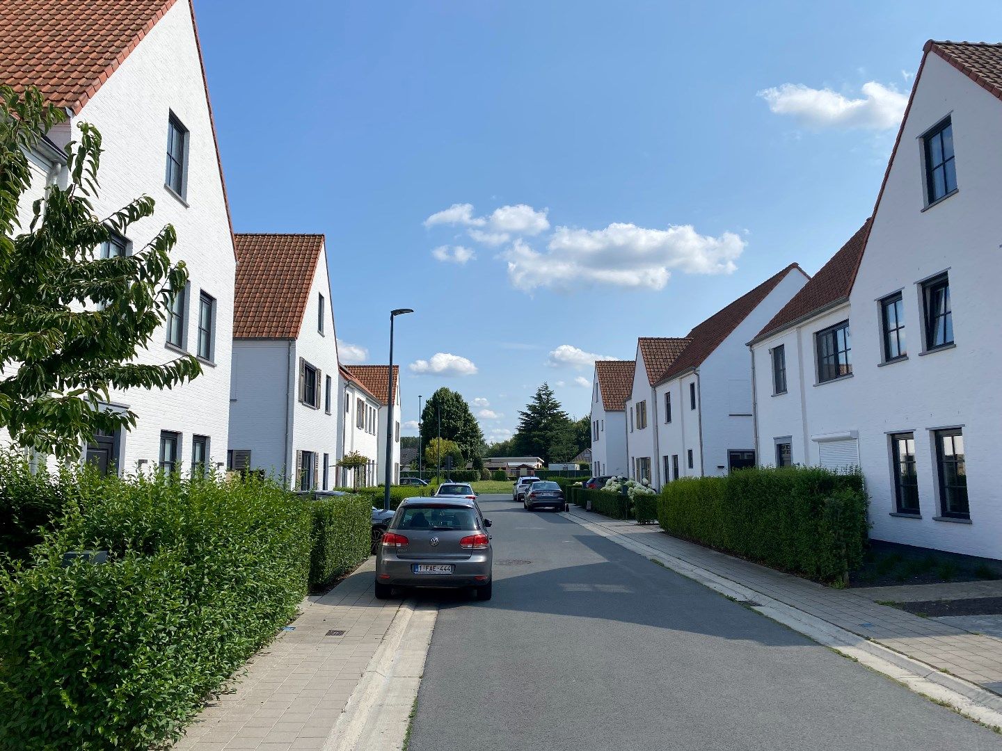
[[[761,443],[789,431],[795,462],[856,459],[873,538],[989,558],[1002,558],[1002,356],[991,322],[1002,275],[1000,81],[1002,46],[926,44],[845,304],[765,331],[753,347],[761,395],[769,349],[797,336],[787,371],[801,370],[797,388],[811,395],[800,423],[784,418],[789,429],[759,399]],[[824,380],[833,372],[819,329],[834,317],[852,336],[837,378]]]

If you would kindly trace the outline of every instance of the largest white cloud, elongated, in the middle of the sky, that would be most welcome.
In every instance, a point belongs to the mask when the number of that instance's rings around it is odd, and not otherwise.
[[[699,234],[690,224],[646,229],[616,222],[604,229],[557,227],[546,252],[521,239],[501,257],[512,285],[571,289],[582,284],[662,289],[672,269],[686,273],[730,273],[744,250],[733,232]]]

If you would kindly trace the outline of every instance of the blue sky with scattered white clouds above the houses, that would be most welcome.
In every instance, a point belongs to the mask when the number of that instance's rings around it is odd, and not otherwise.
[[[925,40],[1002,41],[997,2],[234,8],[195,0],[236,230],[324,232],[339,338],[385,362],[415,308],[405,422],[446,385],[488,440],[543,381],[586,414],[589,355],[816,271]]]

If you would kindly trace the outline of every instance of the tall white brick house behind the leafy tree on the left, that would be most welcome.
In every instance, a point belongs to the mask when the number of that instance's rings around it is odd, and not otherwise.
[[[187,265],[189,282],[169,327],[153,335],[137,361],[164,363],[179,351],[202,360],[202,374],[170,391],[112,392],[108,409],[131,409],[135,428],[88,447],[91,461],[134,471],[157,465],[187,471],[192,463],[222,466],[228,440],[227,395],[235,260],[222,170],[205,87],[197,32],[188,0],[120,2],[108,21],[103,4],[47,4],[38,12],[0,2],[4,49],[0,80],[37,86],[68,119],[32,155],[35,180],[20,213],[50,181],[68,176],[59,150],[89,122],[102,135],[98,215],[143,193],[154,215],[110,243],[108,252],[131,252],[171,223],[177,230],[172,259]],[[58,48],[65,67],[53,66]],[[69,64],[72,61],[72,64]],[[27,224],[24,224],[26,227]]]

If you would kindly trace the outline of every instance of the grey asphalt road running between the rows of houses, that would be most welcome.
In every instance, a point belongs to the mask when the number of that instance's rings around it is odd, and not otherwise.
[[[410,751],[1002,748],[560,515],[500,499],[481,499],[494,599],[420,596],[440,608]]]

